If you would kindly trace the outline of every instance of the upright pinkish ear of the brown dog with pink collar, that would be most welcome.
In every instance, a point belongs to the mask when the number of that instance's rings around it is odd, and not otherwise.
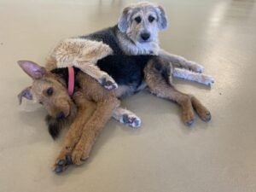
[[[17,61],[23,71],[28,74],[32,79],[41,79],[46,73],[45,68],[38,66],[37,63],[32,61]]]

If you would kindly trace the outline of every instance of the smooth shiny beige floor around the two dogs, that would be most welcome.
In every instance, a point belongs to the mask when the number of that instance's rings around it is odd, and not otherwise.
[[[0,191],[244,192],[256,190],[254,0],[166,0],[163,48],[201,62],[212,89],[176,80],[212,111],[184,126],[173,103],[143,92],[124,106],[143,119],[133,130],[111,120],[84,166],[51,172],[54,142],[44,109],[16,95],[30,84],[15,61],[44,64],[61,38],[113,25],[130,1],[0,0]]]

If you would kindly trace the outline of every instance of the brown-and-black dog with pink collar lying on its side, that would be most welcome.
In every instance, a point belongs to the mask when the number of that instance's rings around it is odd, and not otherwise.
[[[211,119],[211,113],[199,102],[195,96],[189,96],[176,90],[170,81],[172,68],[168,62],[153,55],[109,55],[98,61],[98,66],[114,65],[140,66],[142,71],[140,79],[144,79],[148,85],[148,90],[156,96],[177,102],[182,108],[182,119],[186,125],[191,125],[194,121],[194,112],[204,121]],[[51,132],[56,137],[61,130],[61,126],[73,122],[65,139],[61,153],[57,157],[54,165],[55,172],[63,172],[70,164],[80,165],[83,160],[89,157],[90,149],[95,142],[96,136],[107,123],[113,114],[114,118],[119,118],[119,99],[125,94],[121,91],[121,86],[116,90],[106,90],[89,75],[75,69],[75,84],[73,98],[69,96],[70,82],[69,69],[56,68],[47,71],[44,67],[38,66],[32,61],[18,61],[20,67],[32,79],[32,86],[22,90],[19,94],[20,103],[25,97],[41,103],[46,108],[49,116],[47,121],[49,126],[54,126],[55,132]],[[122,71],[121,68],[119,70]],[[108,73],[112,75],[112,71]],[[115,73],[115,72],[114,72]],[[125,78],[132,79],[128,73]],[[113,75],[119,82],[119,77]],[[121,77],[123,79],[124,76]],[[68,88],[68,91],[67,91]],[[76,108],[78,111],[76,112]],[[55,135],[56,134],[56,135]]]

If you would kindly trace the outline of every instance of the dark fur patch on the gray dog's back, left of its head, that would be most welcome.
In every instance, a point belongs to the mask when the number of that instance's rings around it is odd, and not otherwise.
[[[86,38],[93,41],[102,42],[103,44],[108,44],[108,46],[113,49],[113,54],[124,54],[119,46],[116,35],[118,30],[117,28],[118,26],[108,27],[101,31],[90,33],[89,35],[80,36],[79,38]]]

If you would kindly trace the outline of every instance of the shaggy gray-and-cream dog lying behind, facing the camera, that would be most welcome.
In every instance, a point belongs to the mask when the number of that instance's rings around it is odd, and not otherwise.
[[[201,65],[160,49],[158,32],[166,27],[166,13],[161,6],[148,2],[131,4],[125,7],[116,26],[61,41],[49,55],[47,67],[78,67],[111,90],[118,84],[96,66],[98,60],[107,55],[160,55],[175,66],[174,77],[213,84],[211,76],[201,74],[204,69]],[[134,89],[126,87],[126,91]]]

